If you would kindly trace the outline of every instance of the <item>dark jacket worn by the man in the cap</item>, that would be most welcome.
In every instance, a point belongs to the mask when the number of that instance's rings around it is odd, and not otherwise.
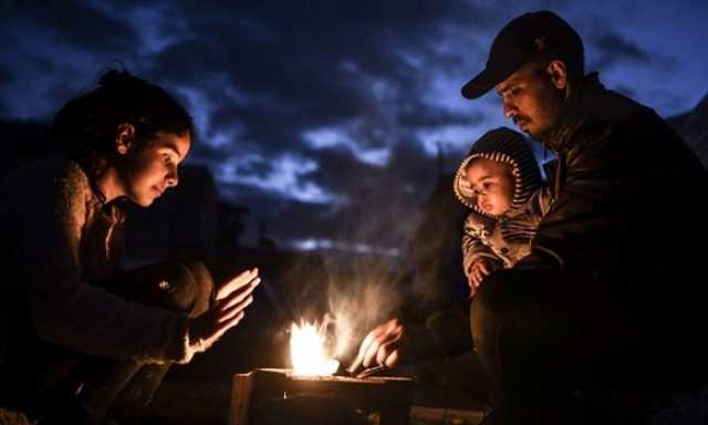
[[[587,75],[559,125],[555,203],[518,269],[568,272],[657,346],[694,350],[706,322],[708,174],[653,110]]]

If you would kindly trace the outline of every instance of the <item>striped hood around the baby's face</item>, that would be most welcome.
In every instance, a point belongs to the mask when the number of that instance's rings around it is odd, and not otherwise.
[[[512,175],[516,179],[511,209],[523,205],[533,191],[541,186],[539,166],[523,136],[507,127],[489,131],[472,145],[472,148],[457,169],[454,180],[455,195],[460,203],[479,214],[493,217],[477,208],[472,189],[467,182],[467,165],[478,157],[511,165]]]

